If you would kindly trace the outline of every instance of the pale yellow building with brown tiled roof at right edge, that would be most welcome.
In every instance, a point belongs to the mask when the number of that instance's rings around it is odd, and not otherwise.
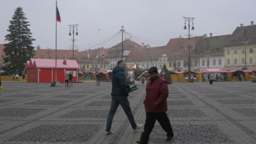
[[[225,69],[242,69],[245,62],[247,68],[256,69],[256,25],[253,21],[248,26],[240,24],[240,27],[234,30],[227,40],[224,55]]]

